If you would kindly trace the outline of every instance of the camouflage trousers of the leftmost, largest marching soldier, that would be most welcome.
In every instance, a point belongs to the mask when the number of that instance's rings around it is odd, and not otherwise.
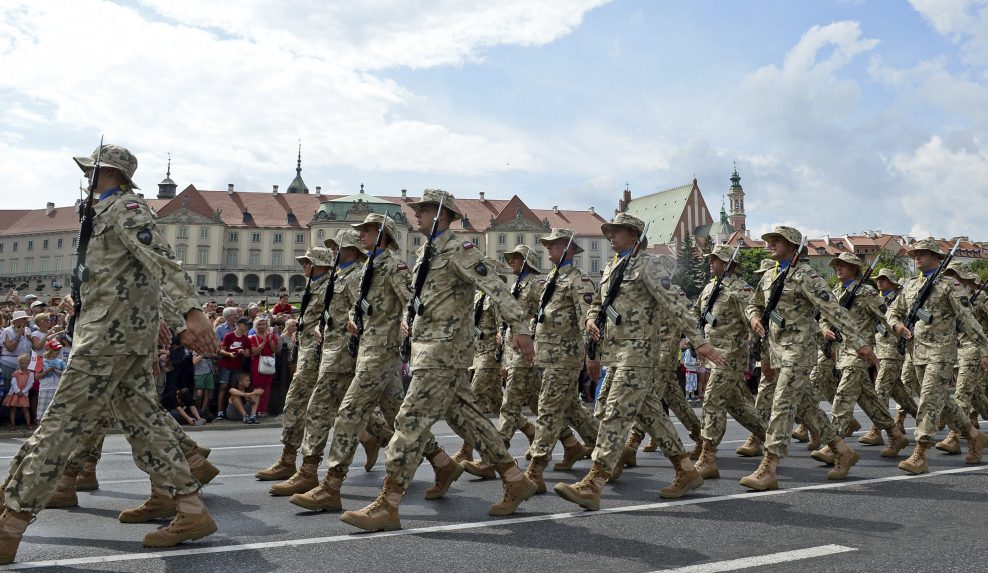
[[[197,491],[154,388],[147,356],[70,356],[48,413],[10,462],[7,507],[44,509],[76,447],[98,441],[92,435],[102,430],[106,412],[120,422],[134,462],[156,485],[173,497]]]

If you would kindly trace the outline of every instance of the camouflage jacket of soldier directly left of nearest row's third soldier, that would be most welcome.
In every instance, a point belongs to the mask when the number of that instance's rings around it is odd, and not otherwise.
[[[577,369],[583,365],[587,355],[584,323],[593,296],[593,281],[580,269],[566,265],[559,270],[556,290],[545,306],[545,320],[535,327],[536,364]]]

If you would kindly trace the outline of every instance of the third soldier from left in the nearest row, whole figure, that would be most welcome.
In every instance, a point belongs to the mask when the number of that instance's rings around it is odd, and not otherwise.
[[[661,497],[682,497],[703,485],[703,478],[693,468],[668,416],[654,403],[645,400],[646,395],[655,388],[654,356],[659,343],[660,317],[657,309],[675,308],[676,295],[672,292],[672,285],[658,261],[639,251],[638,245],[644,241],[642,233],[645,229],[640,219],[619,213],[613,222],[601,225],[600,229],[618,254],[604,268],[600,291],[593,297],[585,328],[590,337],[600,341],[600,362],[594,363],[588,358],[587,371],[591,378],[596,378],[600,363],[607,366],[604,381],[607,395],[590,471],[576,484],[558,483],[554,488],[566,501],[593,511],[600,509],[604,483],[619,463],[628,432],[636,419],[642,420],[646,429],[659,438],[663,454],[675,468],[676,478],[659,491]],[[627,266],[623,276],[615,276],[615,269],[625,257]],[[614,280],[622,281],[620,293],[610,308],[603,308],[606,293]],[[602,312],[613,314],[612,311],[620,320],[607,319],[607,328],[601,332],[595,319]],[[674,318],[678,327],[676,330],[689,334],[697,345],[698,355],[715,364],[723,364],[720,353],[696,331],[696,322],[688,312],[676,314]],[[645,412],[641,411],[643,407]],[[532,464],[535,462],[536,458],[533,457]]]

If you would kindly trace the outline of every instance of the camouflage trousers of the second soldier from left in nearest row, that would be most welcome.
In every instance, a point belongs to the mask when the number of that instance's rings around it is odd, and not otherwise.
[[[388,476],[406,489],[424,454],[438,449],[433,424],[440,418],[480,457],[493,465],[514,463],[504,440],[477,407],[470,374],[460,368],[415,368],[405,401],[395,418],[395,435],[388,443]]]

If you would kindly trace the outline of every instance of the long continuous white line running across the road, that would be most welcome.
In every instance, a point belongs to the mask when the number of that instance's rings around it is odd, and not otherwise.
[[[282,547],[299,547],[303,545],[318,545],[326,543],[341,543],[345,541],[367,541],[381,537],[400,537],[407,535],[422,535],[427,533],[439,533],[444,531],[465,531],[469,529],[483,529],[488,527],[504,527],[521,523],[537,523],[541,521],[561,521],[564,519],[590,518],[600,515],[614,513],[630,513],[633,511],[649,511],[667,507],[678,507],[682,505],[700,505],[704,503],[715,503],[730,500],[752,500],[760,497],[774,495],[785,495],[789,493],[816,491],[828,489],[843,489],[872,484],[881,484],[891,481],[905,481],[914,479],[925,479],[934,476],[949,474],[959,474],[968,472],[978,472],[988,470],[988,466],[969,466],[930,472],[920,475],[903,474],[883,478],[872,478],[853,481],[829,482],[817,485],[794,487],[792,489],[776,489],[770,491],[754,491],[736,493],[730,495],[718,495],[712,497],[696,497],[687,499],[677,499],[673,501],[661,501],[657,503],[646,503],[642,505],[627,505],[623,507],[604,508],[600,511],[570,511],[566,513],[550,513],[543,515],[529,515],[525,517],[512,517],[507,519],[491,519],[487,521],[474,521],[468,523],[450,523],[447,525],[435,525],[431,527],[418,527],[413,529],[400,529],[398,531],[381,531],[377,533],[348,533],[344,535],[332,535],[328,537],[310,537],[306,539],[285,539],[281,541],[265,541],[259,543],[243,543],[233,545],[219,545],[215,547],[195,547],[190,549],[176,549],[172,551],[155,551],[148,553],[123,553],[119,555],[101,555],[93,557],[79,557],[75,559],[55,559],[52,561],[31,561],[26,563],[15,563],[6,567],[0,567],[0,571],[13,571],[19,569],[37,569],[41,567],[71,567],[76,565],[95,565],[100,563],[113,563],[119,561],[144,561],[148,559],[158,559],[164,557],[182,557],[186,555],[209,555],[215,553],[230,553],[233,551],[258,550],[258,549],[278,549]],[[219,538],[217,538],[217,541]]]

